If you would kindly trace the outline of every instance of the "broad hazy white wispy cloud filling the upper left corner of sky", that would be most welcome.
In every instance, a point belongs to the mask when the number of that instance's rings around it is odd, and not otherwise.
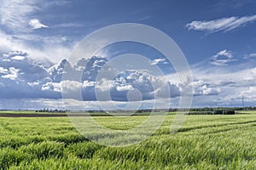
[[[42,19],[38,20],[37,14],[38,11],[43,12],[45,7],[50,5],[54,4],[43,4],[40,0],[29,2],[25,0],[1,0],[0,56],[8,54],[12,50],[25,51],[31,59],[51,60],[51,62],[59,62],[60,59],[68,56],[73,42],[62,44],[64,41],[67,42],[67,37],[64,38],[60,35],[43,36],[32,31],[48,27],[44,24],[44,16],[38,16]],[[38,44],[40,45],[38,46]],[[54,58],[52,57],[53,54],[55,54]]]

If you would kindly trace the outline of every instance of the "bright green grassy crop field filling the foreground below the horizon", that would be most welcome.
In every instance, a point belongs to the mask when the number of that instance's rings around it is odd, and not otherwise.
[[[97,116],[127,129],[147,116]],[[0,117],[0,169],[256,169],[256,113],[188,116],[170,134],[168,115],[142,143],[108,147],[84,138],[67,117]]]

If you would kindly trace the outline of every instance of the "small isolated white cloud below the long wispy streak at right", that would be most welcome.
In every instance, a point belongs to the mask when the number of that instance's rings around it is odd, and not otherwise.
[[[231,51],[228,51],[226,49],[218,52],[218,54],[215,54],[212,56],[212,65],[227,65],[229,62],[234,61],[236,59],[233,59],[233,54]]]

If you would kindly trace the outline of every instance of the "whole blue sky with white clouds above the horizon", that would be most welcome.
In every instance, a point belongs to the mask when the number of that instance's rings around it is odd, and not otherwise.
[[[155,103],[177,107],[185,85],[193,88],[192,107],[242,106],[242,99],[245,106],[256,105],[253,0],[0,0],[0,4],[0,109],[71,105],[90,110],[98,109],[101,100],[101,107],[108,110],[110,101],[96,99],[95,92],[100,87],[103,93],[107,82],[106,92],[119,109],[149,108]],[[70,87],[81,89],[83,101],[73,98],[63,104],[66,83],[61,77],[73,49],[91,32],[120,23],[152,26],[172,37],[189,63],[192,80],[178,81],[172,63],[154,48],[120,42],[103,48],[95,58],[70,65],[73,74],[84,66],[81,81],[68,82],[68,93],[74,93]],[[102,67],[120,54],[145,56],[148,68],[130,69],[113,80],[97,82]],[[125,62],[143,66],[143,59],[127,58]],[[164,76],[150,74],[154,66]],[[163,95],[169,92],[170,102]]]

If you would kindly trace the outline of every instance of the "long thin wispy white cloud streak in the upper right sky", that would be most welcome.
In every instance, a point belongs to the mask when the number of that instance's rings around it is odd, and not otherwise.
[[[218,31],[231,31],[240,26],[246,26],[256,20],[256,14],[252,16],[222,18],[218,20],[194,20],[186,25],[186,28],[195,31],[207,31],[208,33]]]

